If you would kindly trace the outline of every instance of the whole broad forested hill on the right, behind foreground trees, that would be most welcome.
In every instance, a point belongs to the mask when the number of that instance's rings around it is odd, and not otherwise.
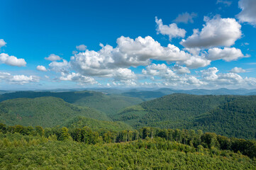
[[[256,96],[172,94],[123,109],[113,120],[134,128],[184,128],[256,138]]]

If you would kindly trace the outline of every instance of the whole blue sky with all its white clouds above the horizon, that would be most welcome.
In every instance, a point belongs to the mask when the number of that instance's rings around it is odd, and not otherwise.
[[[0,90],[256,89],[255,0],[0,4]]]

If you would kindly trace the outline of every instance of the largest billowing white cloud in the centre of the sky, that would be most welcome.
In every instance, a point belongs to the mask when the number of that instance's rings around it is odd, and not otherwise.
[[[164,60],[168,62],[189,59],[187,52],[179,50],[174,45],[162,47],[150,36],[135,40],[131,38],[117,39],[117,47],[101,45],[101,50],[86,50],[71,57],[70,64],[74,70],[89,76],[109,77],[119,68],[146,66],[150,60]]]

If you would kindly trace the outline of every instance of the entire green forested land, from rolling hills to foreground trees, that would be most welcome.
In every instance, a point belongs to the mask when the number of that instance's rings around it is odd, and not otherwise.
[[[256,96],[137,94],[1,94],[0,169],[256,169]]]

